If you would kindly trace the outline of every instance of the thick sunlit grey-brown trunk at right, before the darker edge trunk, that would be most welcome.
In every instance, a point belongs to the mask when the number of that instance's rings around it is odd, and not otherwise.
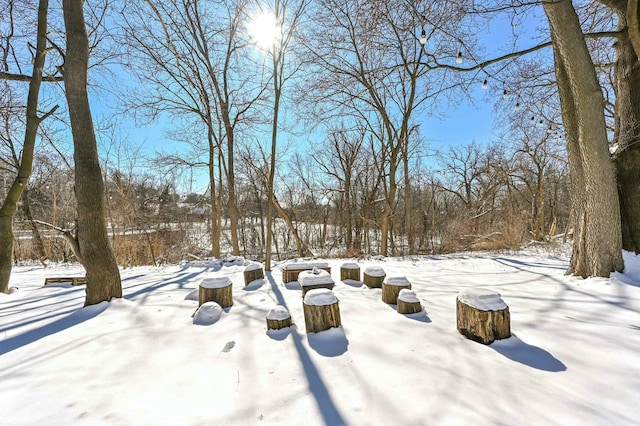
[[[567,273],[608,277],[624,268],[620,208],[608,151],[602,91],[569,0],[543,3],[551,29],[575,219]]]

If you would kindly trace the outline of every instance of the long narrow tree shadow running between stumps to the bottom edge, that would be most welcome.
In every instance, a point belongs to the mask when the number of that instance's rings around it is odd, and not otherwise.
[[[271,272],[265,273],[266,279],[271,284],[271,289],[273,294],[276,297],[279,305],[287,307],[287,303],[284,300],[282,292],[278,288],[275,280]],[[297,282],[296,282],[297,284]],[[298,286],[299,287],[299,286]],[[293,338],[293,343],[295,345],[296,350],[298,351],[298,356],[300,357],[300,361],[302,363],[302,367],[304,369],[305,375],[307,376],[307,382],[309,383],[309,390],[313,394],[316,399],[316,403],[318,404],[318,409],[320,410],[320,414],[324,420],[324,423],[327,425],[344,425],[346,424],[345,420],[340,415],[338,408],[336,407],[331,395],[329,394],[329,390],[324,384],[322,377],[320,377],[320,373],[316,368],[315,364],[311,360],[307,349],[304,347],[302,343],[302,336],[298,333],[298,330],[294,327],[289,327],[289,331],[291,333],[291,337]]]

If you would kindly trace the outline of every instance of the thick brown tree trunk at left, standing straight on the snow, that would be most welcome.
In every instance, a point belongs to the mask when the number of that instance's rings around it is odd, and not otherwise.
[[[84,0],[63,0],[62,5],[67,35],[64,83],[73,136],[78,202],[77,238],[87,272],[85,306],[88,306],[122,297],[122,283],[107,235],[104,183],[87,94],[89,40]]]

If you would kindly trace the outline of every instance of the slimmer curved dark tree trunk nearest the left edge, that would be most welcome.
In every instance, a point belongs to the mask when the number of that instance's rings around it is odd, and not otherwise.
[[[29,94],[27,95],[27,121],[25,125],[24,144],[22,156],[18,167],[18,174],[14,179],[9,192],[0,208],[0,292],[9,291],[9,278],[11,276],[13,257],[13,216],[18,207],[18,201],[22,192],[29,183],[33,168],[33,151],[36,145],[38,127],[42,120],[55,111],[55,108],[43,117],[38,117],[38,96],[42,83],[42,71],[44,69],[47,48],[47,15],[49,1],[40,0],[38,5],[38,34],[36,41],[36,54],[33,60],[33,71],[29,82]],[[57,108],[57,107],[56,107]]]

